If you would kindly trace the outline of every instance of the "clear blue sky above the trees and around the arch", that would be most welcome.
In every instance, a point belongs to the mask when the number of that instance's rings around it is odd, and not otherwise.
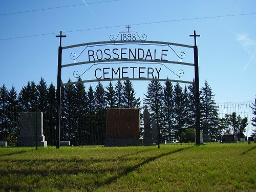
[[[146,34],[147,40],[191,46],[194,39],[189,35],[196,30],[201,35],[197,38],[200,88],[207,80],[216,102],[253,101],[255,7],[256,1],[244,0],[1,0],[0,86],[5,83],[11,89],[14,84],[19,92],[28,80],[38,83],[40,77],[48,85],[56,85],[59,39],[55,35],[60,30],[67,35],[62,46],[70,46],[109,40],[111,34],[117,35],[130,25],[130,30]],[[63,72],[64,82],[73,76],[72,69],[68,72]],[[93,73],[94,70],[83,79],[92,79]],[[138,97],[146,93],[148,83],[133,81]],[[87,90],[90,84],[96,87],[96,83],[86,83]]]

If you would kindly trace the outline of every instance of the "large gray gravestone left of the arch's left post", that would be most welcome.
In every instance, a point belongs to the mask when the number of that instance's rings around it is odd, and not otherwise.
[[[42,112],[37,112],[37,117],[36,112],[20,113],[18,146],[36,146],[36,138],[37,146],[47,146],[47,141],[45,141],[45,136],[42,132],[42,119]]]

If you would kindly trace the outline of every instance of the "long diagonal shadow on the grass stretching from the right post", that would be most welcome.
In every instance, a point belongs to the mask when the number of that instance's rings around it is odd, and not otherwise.
[[[161,155],[158,155],[156,157],[151,157],[151,158],[148,158],[147,160],[139,163],[138,165],[135,165],[135,166],[132,166],[132,167],[128,167],[126,168],[122,173],[118,174],[117,176],[115,177],[112,177],[112,178],[109,178],[108,180],[106,180],[104,183],[98,183],[97,184],[97,187],[102,187],[102,186],[105,186],[105,185],[109,185],[113,182],[115,182],[117,179],[119,179],[120,177],[124,177],[126,175],[128,175],[129,173],[132,173],[134,170],[136,170],[137,168],[139,168],[140,166],[143,166],[149,162],[152,162],[152,161],[155,161],[156,159],[159,159],[161,157],[164,157],[164,156],[167,156],[167,155],[171,155],[171,154],[175,154],[175,153],[178,153],[178,152],[181,152],[181,151],[184,151],[184,150],[187,150],[188,148],[192,148],[193,146],[189,146],[189,147],[186,147],[186,148],[180,148],[178,150],[175,150],[175,151],[172,151],[172,152],[168,152],[168,153],[165,153],[165,154],[161,154]]]

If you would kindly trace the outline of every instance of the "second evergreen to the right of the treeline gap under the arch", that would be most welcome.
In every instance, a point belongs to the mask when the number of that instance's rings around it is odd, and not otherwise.
[[[168,140],[173,140],[173,118],[174,118],[174,100],[173,100],[173,84],[165,81],[163,87],[163,113],[164,121],[167,123]]]

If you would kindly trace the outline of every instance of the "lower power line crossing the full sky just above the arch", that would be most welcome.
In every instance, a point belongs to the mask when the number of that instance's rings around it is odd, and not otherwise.
[[[119,1],[119,0],[113,0],[113,1]],[[84,5],[84,4],[82,4],[82,5]],[[244,13],[244,14],[233,14],[233,15],[220,15],[220,16],[209,16],[209,17],[184,18],[184,19],[162,20],[162,21],[159,21],[159,22],[147,22],[147,23],[129,24],[129,25],[130,26],[151,25],[151,24],[170,23],[170,22],[182,22],[182,21],[185,21],[185,20],[210,19],[210,18],[245,16],[245,15],[255,15],[255,14],[256,13]],[[109,26],[109,27],[98,27],[98,28],[89,28],[89,29],[79,29],[79,30],[73,30],[73,31],[63,31],[63,33],[72,33],[72,32],[79,32],[79,31],[91,31],[91,30],[99,30],[99,29],[109,29],[109,28],[124,27],[124,26],[126,26],[126,25]],[[27,36],[19,36],[19,37],[10,37],[10,38],[3,38],[3,39],[0,39],[0,40],[11,40],[11,39],[18,39],[18,38],[36,37],[36,36],[44,36],[44,35],[55,35],[55,34],[59,34],[59,32],[37,34],[37,35],[27,35]]]

